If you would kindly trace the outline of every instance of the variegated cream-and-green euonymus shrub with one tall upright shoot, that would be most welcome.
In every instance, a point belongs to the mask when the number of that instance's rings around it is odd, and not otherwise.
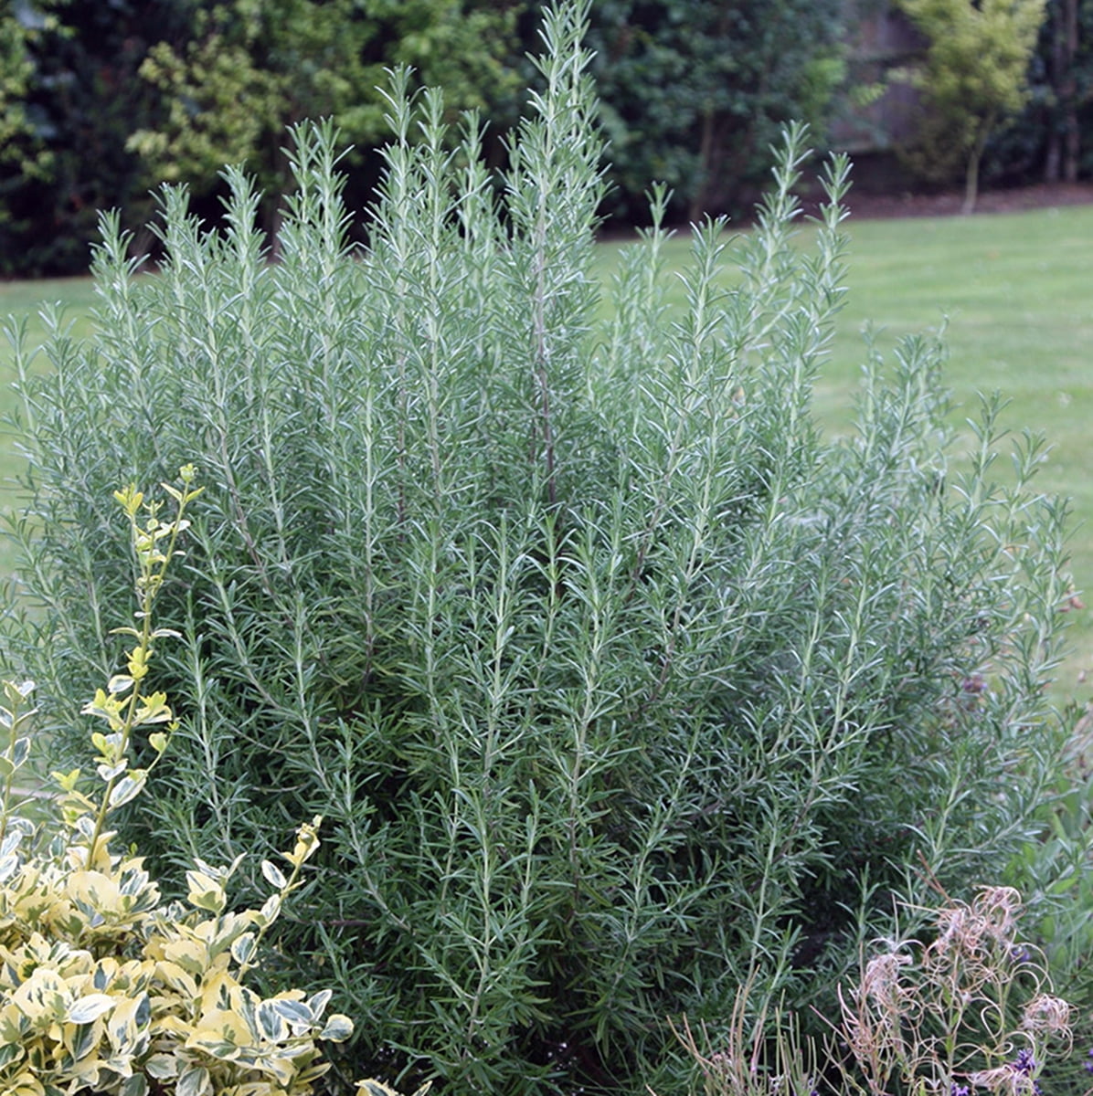
[[[261,997],[243,984],[282,903],[301,883],[319,846],[319,820],[301,825],[284,855],[262,874],[274,888],[261,909],[228,910],[227,884],[240,858],[186,871],[184,902],[166,905],[134,852],[118,852],[114,811],[144,789],[174,730],[167,696],[147,692],[161,640],[152,603],[179,534],[189,525],[193,469],[180,488],[164,484],[178,510],[164,520],[140,492],[117,492],[137,559],[139,608],[125,673],[114,674],[83,709],[105,724],[92,734],[100,790],[80,770],[55,774],[45,822],[20,813],[18,779],[32,753],[30,682],[5,683],[0,726],[0,1092],[5,1096],[306,1096],[329,1065],[317,1039],[341,1041],[353,1026],[323,1018],[330,990]],[[156,728],[160,730],[156,730]],[[138,737],[147,734],[147,741]],[[147,754],[151,764],[136,764]],[[26,773],[23,773],[26,776]],[[80,790],[83,788],[84,790]],[[41,814],[44,801],[22,804]],[[55,813],[56,812],[56,817]]]

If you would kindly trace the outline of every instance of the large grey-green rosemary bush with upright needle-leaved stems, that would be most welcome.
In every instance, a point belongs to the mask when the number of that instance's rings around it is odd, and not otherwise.
[[[452,1093],[668,1091],[665,1019],[724,1024],[742,984],[830,1011],[893,899],[997,878],[1059,775],[1037,445],[1002,486],[988,403],[950,465],[922,338],[820,436],[847,165],[799,249],[799,129],[754,232],[695,229],[682,310],[663,192],[602,286],[582,15],[546,19],[500,195],[476,121],[453,142],[396,76],[366,249],[301,127],[276,264],[228,169],[224,235],[163,192],[156,276],[104,219],[98,333],[58,324],[48,375],[14,333],[42,612],[7,631],[56,753],[126,582],[99,500],[194,454],[217,486],[162,594],[186,704],[121,833],[234,863],[322,814],[269,989],[333,985],[351,1053]]]

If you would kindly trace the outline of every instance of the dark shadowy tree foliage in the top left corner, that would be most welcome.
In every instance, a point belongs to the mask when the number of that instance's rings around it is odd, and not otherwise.
[[[124,204],[133,224],[147,218],[155,180],[125,139],[158,104],[137,70],[158,37],[185,34],[186,16],[182,0],[8,7],[0,273],[83,271],[99,210]]]

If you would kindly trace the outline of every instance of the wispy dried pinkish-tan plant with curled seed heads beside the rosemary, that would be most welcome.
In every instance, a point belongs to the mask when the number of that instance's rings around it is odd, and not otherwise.
[[[1049,1053],[1071,1049],[1070,1005],[1051,993],[1043,957],[1018,936],[1022,904],[983,887],[911,911],[922,939],[877,940],[858,981],[839,987],[841,1016],[820,1047],[792,1013],[759,1004],[751,982],[711,1034],[673,1030],[704,1096],[1041,1096]],[[1093,1053],[1093,1052],[1091,1052]]]

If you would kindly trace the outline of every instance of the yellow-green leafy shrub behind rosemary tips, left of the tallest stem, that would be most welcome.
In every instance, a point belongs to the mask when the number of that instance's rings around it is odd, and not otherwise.
[[[224,163],[247,161],[267,190],[289,185],[285,128],[331,117],[366,151],[388,135],[378,90],[385,69],[411,66],[423,84],[445,89],[448,121],[476,109],[490,113],[515,98],[513,38],[521,0],[246,0],[205,4],[189,39],[156,44],[140,75],[162,96],[156,126],[128,147],[152,173],[208,190]],[[357,180],[371,190],[375,172]],[[363,185],[360,185],[362,184]],[[362,195],[363,201],[363,195]]]

